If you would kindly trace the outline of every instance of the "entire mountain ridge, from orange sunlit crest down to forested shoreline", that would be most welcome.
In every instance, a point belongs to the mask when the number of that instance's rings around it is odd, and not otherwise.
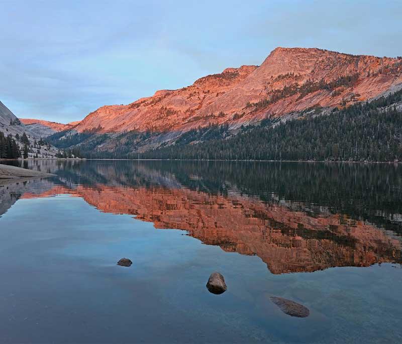
[[[400,139],[395,127],[400,121],[400,92],[385,100],[388,107],[396,106],[394,111],[384,112],[382,101],[365,107],[352,105],[388,97],[401,87],[402,57],[278,47],[259,66],[226,68],[186,87],[158,90],[127,105],[99,107],[73,128],[55,133],[49,140],[61,149],[77,147],[92,158],[141,155],[150,159],[400,161]],[[347,108],[352,110],[341,111]],[[354,120],[354,111],[359,123]],[[369,120],[365,111],[369,111]],[[293,120],[322,115],[336,119],[314,122],[320,129],[313,123],[303,123],[270,131]],[[338,120],[343,121],[342,126]],[[260,129],[247,133],[253,128]],[[347,128],[353,130],[353,135],[344,132]],[[300,130],[308,130],[311,135],[306,137]],[[375,143],[368,140],[368,132],[374,135]],[[289,141],[283,133],[298,137],[308,150]],[[324,138],[324,133],[329,137]],[[255,135],[259,135],[258,140]],[[310,142],[313,138],[316,141]],[[233,147],[228,147],[229,139]],[[264,141],[268,139],[275,140],[275,144]],[[358,140],[360,146],[351,150],[339,140],[347,140],[353,146]],[[286,148],[284,142],[291,147]],[[270,151],[264,152],[266,149]]]

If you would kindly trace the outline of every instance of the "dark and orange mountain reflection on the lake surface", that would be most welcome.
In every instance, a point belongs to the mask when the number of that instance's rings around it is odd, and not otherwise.
[[[57,177],[0,188],[0,211],[20,197],[71,194],[103,212],[132,214],[227,252],[257,255],[273,274],[402,261],[399,165],[29,164]]]

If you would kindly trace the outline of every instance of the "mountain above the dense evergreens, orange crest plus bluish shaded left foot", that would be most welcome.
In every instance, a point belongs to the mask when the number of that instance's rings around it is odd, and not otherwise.
[[[51,140],[61,148],[80,145],[92,156],[127,157],[175,145],[191,130],[224,128],[225,139],[267,119],[274,126],[313,110],[314,117],[332,113],[401,85],[401,57],[279,47],[260,66],[227,68],[128,105],[102,106]],[[198,139],[186,143],[205,141]]]

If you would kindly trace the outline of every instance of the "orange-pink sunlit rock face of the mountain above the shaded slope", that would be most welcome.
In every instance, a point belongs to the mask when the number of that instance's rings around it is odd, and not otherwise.
[[[231,128],[313,106],[334,107],[373,98],[402,82],[402,60],[321,49],[276,48],[260,66],[227,68],[177,90],[160,90],[128,105],[102,106],[88,114],[79,132],[180,132],[211,124]],[[345,76],[349,82],[341,81]],[[306,93],[286,87],[321,81]],[[331,86],[329,86],[331,85]],[[275,101],[275,91],[283,90]],[[280,92],[279,92],[280,93]],[[276,94],[278,95],[278,94]]]

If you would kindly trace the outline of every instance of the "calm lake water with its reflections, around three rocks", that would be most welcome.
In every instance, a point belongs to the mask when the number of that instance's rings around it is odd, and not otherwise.
[[[402,342],[400,165],[7,163],[2,343]]]

